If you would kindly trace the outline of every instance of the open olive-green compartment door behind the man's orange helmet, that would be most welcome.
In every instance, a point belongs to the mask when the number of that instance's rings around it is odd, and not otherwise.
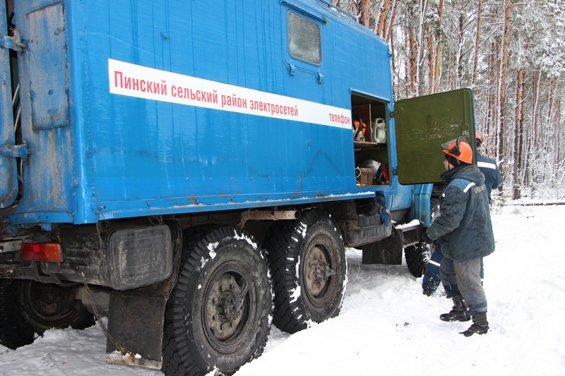
[[[441,182],[441,144],[461,135],[470,142],[473,164],[477,163],[472,90],[400,100],[394,105],[394,119],[400,184]]]

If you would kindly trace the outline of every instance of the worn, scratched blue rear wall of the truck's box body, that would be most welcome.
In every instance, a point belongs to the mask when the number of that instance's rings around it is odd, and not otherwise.
[[[73,222],[78,205],[72,190],[65,9],[55,1],[14,6],[14,23],[27,44],[18,56],[21,138],[32,154],[22,161],[22,198],[6,213],[12,224],[49,228]]]

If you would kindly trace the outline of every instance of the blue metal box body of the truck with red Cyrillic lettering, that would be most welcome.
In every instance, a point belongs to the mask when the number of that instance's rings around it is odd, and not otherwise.
[[[30,37],[44,22],[46,35],[36,36],[44,40],[29,54],[45,46],[57,49],[55,55],[64,53],[67,64],[44,61],[57,71],[57,80],[43,86],[47,93],[59,93],[64,81],[69,97],[68,102],[65,95],[40,100],[31,94],[35,84],[23,83],[30,93],[23,100],[23,137],[34,154],[24,169],[24,198],[8,216],[12,223],[56,218],[81,224],[372,197],[376,190],[385,196],[398,193],[396,178],[391,186],[357,187],[349,124],[302,119],[309,106],[300,107],[297,119],[289,121],[266,111],[249,114],[240,105],[222,108],[220,93],[220,107],[206,107],[206,100],[185,103],[177,89],[172,98],[174,80],[194,78],[254,90],[253,100],[278,95],[347,111],[352,90],[367,92],[391,111],[388,46],[347,16],[309,0],[285,3],[298,7],[228,0],[50,3],[18,3],[20,15],[32,12],[37,20],[30,25],[29,17],[20,16],[17,26]],[[323,83],[307,70],[290,74],[285,60],[289,8],[323,18]],[[64,43],[55,39],[61,35],[56,27],[61,19]],[[153,69],[174,78],[155,78],[150,89],[148,81],[137,78],[136,94],[116,94],[111,92],[116,76],[109,71],[110,61],[132,64],[139,69],[135,74]],[[23,59],[20,65],[20,75],[29,78],[32,64]],[[166,98],[143,97],[149,90],[155,95],[157,87],[160,95],[166,87]],[[213,88],[207,93],[212,95]],[[54,104],[64,121],[32,128],[34,116],[46,116]],[[388,131],[393,171],[392,121]]]

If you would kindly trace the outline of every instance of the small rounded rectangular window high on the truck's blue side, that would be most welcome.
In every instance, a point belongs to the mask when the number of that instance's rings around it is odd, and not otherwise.
[[[319,26],[288,12],[288,49],[296,59],[319,65],[322,61],[321,37]]]

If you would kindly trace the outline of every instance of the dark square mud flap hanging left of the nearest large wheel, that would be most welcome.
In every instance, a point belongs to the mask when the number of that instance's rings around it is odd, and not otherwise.
[[[112,293],[106,341],[108,363],[161,369],[165,303],[164,296]]]

